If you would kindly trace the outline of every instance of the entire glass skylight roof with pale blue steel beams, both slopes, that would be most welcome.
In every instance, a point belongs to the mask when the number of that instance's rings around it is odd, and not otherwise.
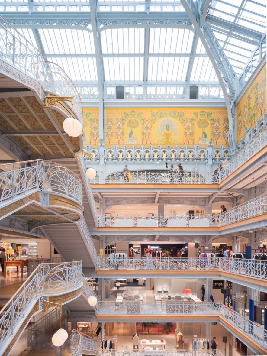
[[[61,66],[74,84],[83,88],[82,91],[80,89],[83,95],[90,93],[90,98],[98,96],[100,84],[97,73],[103,75],[106,88],[118,84],[131,87],[133,98],[137,98],[137,87],[142,90],[142,95],[147,92],[147,88],[150,88],[151,93],[155,88],[157,95],[166,95],[168,99],[178,95],[178,92],[158,93],[157,88],[165,90],[175,87],[184,90],[192,83],[202,85],[201,98],[221,98],[218,77],[194,27],[186,26],[190,21],[180,1],[151,0],[149,7],[145,0],[95,1],[99,43],[94,43],[96,36],[93,36],[90,14],[86,17],[86,28],[82,26],[83,22],[79,26],[72,22],[72,11],[76,11],[75,16],[85,21],[85,17],[78,15],[77,11],[90,11],[89,0],[32,0],[31,16],[38,13],[36,21],[32,22],[34,26],[25,28],[27,13],[23,13],[23,28],[20,29],[18,24],[18,30],[35,47],[39,46],[48,61]],[[194,3],[197,4],[197,1]],[[0,0],[0,11],[4,16],[8,11],[28,11],[25,10],[27,6],[28,0]],[[46,27],[43,21],[46,19],[46,11],[54,12],[55,23],[56,14],[62,13],[63,17],[58,16],[60,27],[51,25],[53,21]],[[158,12],[156,15],[155,11]],[[174,16],[174,12],[179,14]],[[155,18],[151,20],[149,14]],[[236,76],[241,75],[245,68],[248,68],[247,80],[266,51],[265,42],[262,51],[251,59],[266,31],[265,14],[266,0],[210,2],[205,28],[214,43],[208,44],[217,47],[214,50],[224,58],[224,68],[231,67],[231,83],[235,79],[234,73]],[[66,28],[65,20],[60,20],[65,19],[64,16],[70,20],[69,23],[66,21]],[[20,23],[16,19],[14,21],[12,23]],[[183,23],[183,26],[179,27],[179,23]],[[70,24],[73,26],[70,27]],[[203,31],[204,35],[206,31]]]

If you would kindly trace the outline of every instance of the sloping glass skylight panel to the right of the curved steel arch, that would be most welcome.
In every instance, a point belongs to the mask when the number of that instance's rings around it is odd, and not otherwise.
[[[265,0],[211,1],[206,21],[214,23],[214,26],[209,24],[209,27],[236,74],[244,70],[258,47],[262,33],[266,31],[265,14]],[[216,23],[216,18],[231,23]],[[256,31],[255,34],[251,30]]]

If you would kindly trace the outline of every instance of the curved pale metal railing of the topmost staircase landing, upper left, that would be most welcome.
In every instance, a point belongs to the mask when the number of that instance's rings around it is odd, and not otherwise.
[[[42,100],[45,92],[49,91],[57,96],[74,96],[73,110],[82,122],[82,101],[80,95],[68,75],[57,64],[46,62],[42,53],[26,40],[15,28],[0,16],[0,58],[37,80],[40,84],[35,86]],[[12,75],[15,75],[12,73]],[[29,85],[27,78],[17,75],[25,84]],[[66,104],[70,104],[66,101]]]

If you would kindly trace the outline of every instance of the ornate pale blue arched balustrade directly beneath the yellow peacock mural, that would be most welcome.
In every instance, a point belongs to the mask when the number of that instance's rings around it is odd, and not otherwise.
[[[93,155],[93,161],[99,161],[99,148],[91,147],[90,145],[85,146],[85,150]],[[159,145],[155,146],[112,146],[105,147],[104,149],[104,161],[106,162],[206,162],[210,156],[211,161],[224,161],[229,159],[230,148],[224,147],[200,147],[199,145],[194,145],[190,147],[185,146],[166,146],[162,147]]]

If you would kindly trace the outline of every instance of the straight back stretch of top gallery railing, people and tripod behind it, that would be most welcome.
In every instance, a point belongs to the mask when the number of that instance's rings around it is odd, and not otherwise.
[[[98,172],[91,184],[101,183],[100,177],[105,177],[105,184],[213,184],[219,183],[219,175],[211,171],[124,171]]]

